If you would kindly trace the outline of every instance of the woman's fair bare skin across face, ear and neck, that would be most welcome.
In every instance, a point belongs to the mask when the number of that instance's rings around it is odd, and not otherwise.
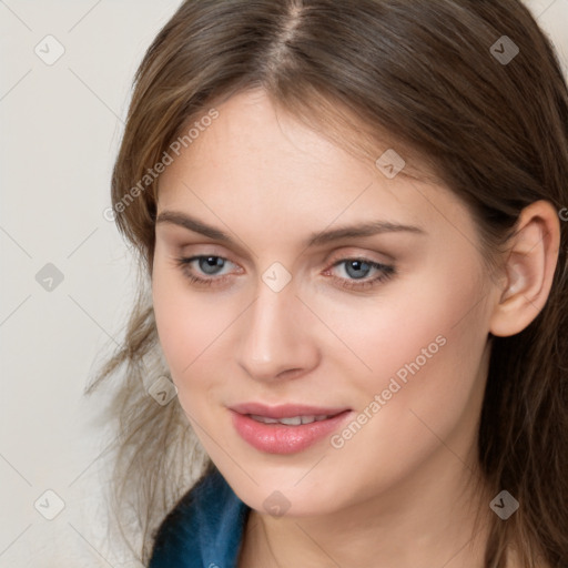
[[[518,333],[545,304],[556,211],[544,201],[524,211],[503,273],[490,278],[473,219],[448,189],[387,179],[276,111],[261,90],[216,108],[220,116],[162,174],[158,214],[190,214],[234,244],[158,223],[152,286],[180,404],[253,509],[239,566],[481,567],[495,495],[474,494],[471,479],[488,333]],[[304,245],[312,233],[372,220],[425,234]],[[176,264],[199,254],[226,258],[216,273],[197,262],[185,268],[216,284],[192,284]],[[354,256],[396,273],[374,287],[343,288],[357,274],[379,274],[333,266]],[[280,292],[262,280],[274,262],[292,276]],[[444,346],[338,449],[325,438],[296,454],[265,454],[232,426],[227,406],[251,400],[363,412],[437,336]],[[263,505],[274,490],[290,501],[281,517]]]

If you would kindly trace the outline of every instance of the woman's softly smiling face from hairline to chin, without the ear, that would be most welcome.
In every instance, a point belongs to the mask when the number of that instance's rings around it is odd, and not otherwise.
[[[490,316],[467,209],[263,91],[216,109],[161,176],[152,274],[179,402],[212,460],[254,509],[297,516],[465,474]],[[378,222],[414,229],[327,234]]]

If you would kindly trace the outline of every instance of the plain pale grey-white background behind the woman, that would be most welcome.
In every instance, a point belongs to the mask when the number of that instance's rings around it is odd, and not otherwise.
[[[135,284],[103,217],[131,81],[179,3],[0,0],[0,568],[140,566],[106,541],[112,425],[82,392]],[[568,0],[528,3],[567,72]],[[48,34],[64,48],[51,65],[34,52],[55,53]],[[63,274],[51,291],[36,280],[48,263]],[[53,520],[45,490],[64,503]]]

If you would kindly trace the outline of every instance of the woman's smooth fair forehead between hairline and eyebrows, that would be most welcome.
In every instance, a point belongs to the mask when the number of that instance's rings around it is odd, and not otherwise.
[[[374,161],[274,106],[261,90],[215,109],[217,118],[162,174],[159,211],[200,212],[216,226],[221,219],[246,217],[273,231],[372,217],[444,229],[448,219],[467,215],[444,186],[386,176]]]

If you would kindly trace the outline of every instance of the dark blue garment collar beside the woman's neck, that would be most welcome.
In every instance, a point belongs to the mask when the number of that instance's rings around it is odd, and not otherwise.
[[[250,510],[215,468],[164,518],[149,568],[236,568]]]

